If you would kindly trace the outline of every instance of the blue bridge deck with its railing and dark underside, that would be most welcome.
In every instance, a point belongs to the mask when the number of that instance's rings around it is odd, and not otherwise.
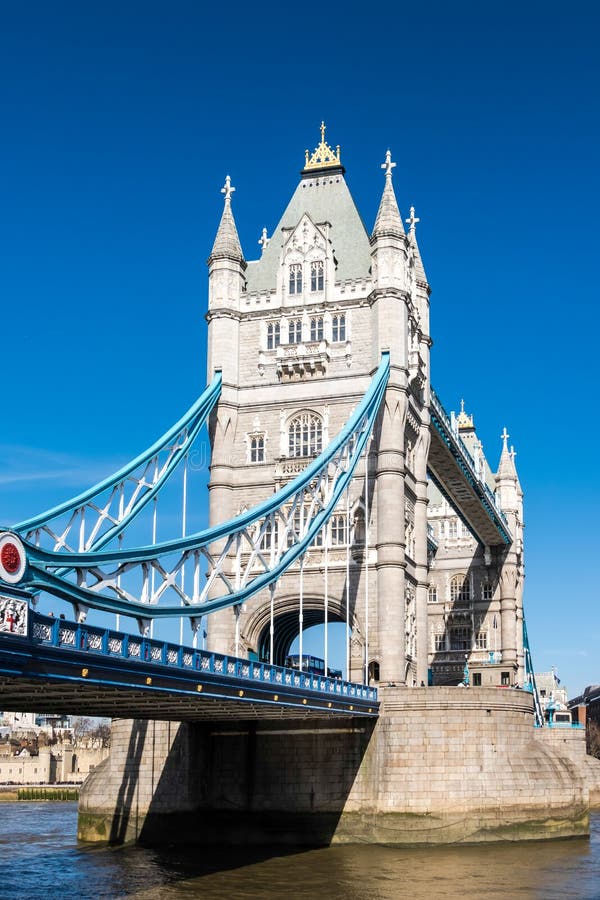
[[[0,634],[0,706],[125,718],[377,716],[377,691],[252,660],[29,614]],[[112,646],[112,650],[107,650]]]

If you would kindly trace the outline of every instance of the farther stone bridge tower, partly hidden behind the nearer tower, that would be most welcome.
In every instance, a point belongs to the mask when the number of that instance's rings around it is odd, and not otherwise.
[[[433,684],[511,687],[522,684],[523,492],[504,431],[494,474],[464,403],[452,413],[452,430],[473,459],[476,472],[505,510],[512,510],[515,542],[514,604],[503,600],[501,559],[471,534],[436,485],[428,485],[430,554],[427,592],[429,669]],[[435,547],[433,546],[435,545]],[[504,589],[506,593],[506,589]],[[517,647],[515,656],[506,647]]]

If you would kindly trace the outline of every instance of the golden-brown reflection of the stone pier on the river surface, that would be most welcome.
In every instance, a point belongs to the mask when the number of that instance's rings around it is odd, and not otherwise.
[[[598,822],[600,826],[600,822]],[[214,856],[209,866],[160,889],[155,898],[589,898],[600,896],[600,846],[585,840],[527,845],[460,846],[398,850],[367,845],[331,847],[265,860]],[[216,871],[207,871],[207,869]],[[220,871],[219,871],[220,869]]]

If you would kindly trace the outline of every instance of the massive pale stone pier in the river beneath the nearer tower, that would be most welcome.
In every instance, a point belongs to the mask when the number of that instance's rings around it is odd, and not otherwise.
[[[408,846],[588,834],[600,778],[583,732],[535,729],[528,693],[384,687],[380,700],[377,722],[116,720],[80,795],[79,837]]]

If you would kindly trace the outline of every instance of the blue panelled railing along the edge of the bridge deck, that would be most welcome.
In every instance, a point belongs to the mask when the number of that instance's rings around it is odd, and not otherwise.
[[[297,688],[332,698],[366,700],[377,702],[377,689],[364,684],[355,684],[287,669],[251,659],[239,659],[221,653],[182,647],[167,641],[131,635],[111,628],[79,624],[66,619],[45,616],[30,610],[29,637],[34,644],[50,646],[65,651],[89,653],[90,657],[101,656],[127,662],[141,662],[146,666],[168,666],[185,673],[202,673],[219,678],[243,679],[253,684]]]

